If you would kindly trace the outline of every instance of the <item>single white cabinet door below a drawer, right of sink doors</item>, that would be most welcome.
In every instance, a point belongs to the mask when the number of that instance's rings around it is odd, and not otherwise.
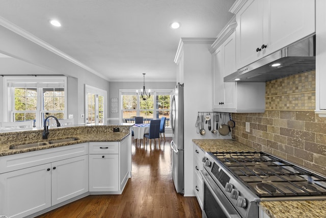
[[[118,154],[89,155],[90,191],[119,190]]]

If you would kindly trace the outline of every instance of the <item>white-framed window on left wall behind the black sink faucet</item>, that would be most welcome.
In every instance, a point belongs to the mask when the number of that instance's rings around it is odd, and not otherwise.
[[[66,77],[5,77],[5,120],[34,120],[42,127],[49,115],[66,118]]]

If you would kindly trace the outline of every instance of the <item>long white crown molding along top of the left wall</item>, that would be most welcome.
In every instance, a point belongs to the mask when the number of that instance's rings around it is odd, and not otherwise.
[[[64,58],[64,59],[66,59],[67,61],[70,61],[71,63],[73,63],[73,64],[75,64],[75,65],[77,65],[79,67],[82,67],[82,68],[86,69],[87,71],[91,72],[92,74],[94,74],[94,75],[96,75],[96,76],[98,76],[98,77],[100,77],[102,79],[105,79],[105,80],[108,80],[109,79],[109,78],[106,78],[103,75],[101,75],[96,70],[88,67],[87,65],[83,64],[80,61],[77,61],[76,59],[70,57],[66,53],[58,50],[56,47],[53,47],[52,45],[46,43],[45,41],[37,38],[33,34],[31,34],[31,33],[27,32],[27,31],[23,30],[22,28],[14,25],[14,23],[6,20],[5,18],[3,18],[1,16],[0,16],[0,25],[3,26],[3,27],[5,27],[5,28],[7,28],[8,30],[10,30],[10,31],[12,31],[12,32],[14,32],[14,33],[16,33],[16,34],[18,34],[18,35],[20,35],[20,36],[22,36],[22,37],[24,37],[24,38],[32,41],[32,42],[34,42],[35,44],[43,47],[44,49],[46,49],[46,50],[48,50],[48,51],[50,51],[50,52],[52,52],[52,53],[54,53],[54,54],[56,54],[56,55]]]

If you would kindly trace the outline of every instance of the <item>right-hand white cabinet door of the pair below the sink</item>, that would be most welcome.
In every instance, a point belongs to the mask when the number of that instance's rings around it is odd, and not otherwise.
[[[88,191],[88,155],[51,164],[52,205]]]

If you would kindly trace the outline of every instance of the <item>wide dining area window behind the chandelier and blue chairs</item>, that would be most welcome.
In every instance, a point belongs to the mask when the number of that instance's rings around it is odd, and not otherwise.
[[[134,122],[135,116],[143,116],[144,123],[151,119],[167,117],[166,127],[170,126],[170,105],[172,90],[152,90],[151,96],[146,101],[139,98],[135,92],[120,90],[122,99],[122,119],[128,123]]]

